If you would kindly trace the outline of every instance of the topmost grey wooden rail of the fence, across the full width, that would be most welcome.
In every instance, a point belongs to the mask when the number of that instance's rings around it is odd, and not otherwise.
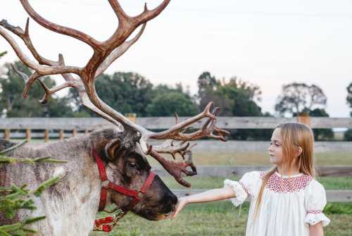
[[[189,117],[180,117],[185,120]],[[277,124],[297,121],[297,118],[274,117],[219,117],[217,126],[225,129],[272,129]],[[135,122],[151,130],[163,130],[175,125],[173,117],[136,118]],[[200,128],[203,122],[194,124]],[[0,118],[0,130],[94,130],[112,126],[103,118]],[[311,128],[352,128],[352,118],[311,117]]]

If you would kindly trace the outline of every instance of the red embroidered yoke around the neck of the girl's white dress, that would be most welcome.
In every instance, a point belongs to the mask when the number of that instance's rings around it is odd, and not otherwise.
[[[265,173],[260,173],[260,178],[264,178]],[[299,175],[290,178],[282,178],[273,173],[267,182],[266,187],[275,192],[295,192],[304,189],[313,178],[310,175]]]

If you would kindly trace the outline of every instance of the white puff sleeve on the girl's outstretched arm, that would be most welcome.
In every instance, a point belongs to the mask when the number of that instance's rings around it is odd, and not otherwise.
[[[245,173],[238,182],[228,179],[224,181],[224,187],[230,186],[236,192],[236,197],[231,199],[234,206],[239,206],[247,197],[253,196],[254,188],[259,181],[259,175],[258,171],[252,171]]]

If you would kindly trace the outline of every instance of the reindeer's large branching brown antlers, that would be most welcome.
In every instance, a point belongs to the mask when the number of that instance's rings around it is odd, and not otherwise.
[[[189,150],[190,147],[188,141],[199,139],[201,137],[213,137],[215,139],[225,141],[225,135],[228,134],[227,131],[215,127],[215,116],[218,113],[218,108],[212,109],[213,103],[209,103],[204,111],[199,113],[199,115],[189,118],[188,120],[184,120],[181,123],[177,123],[178,118],[176,115],[175,126],[163,132],[151,132],[142,126],[132,123],[132,121],[125,118],[125,116],[118,113],[118,111],[113,110],[113,108],[101,101],[95,91],[94,80],[96,77],[101,75],[106,68],[113,63],[113,61],[122,56],[122,54],[124,54],[125,51],[132,46],[132,44],[137,42],[139,37],[141,37],[144,32],[146,23],[159,15],[161,11],[168,6],[170,0],[164,0],[153,10],[149,10],[145,5],[144,11],[137,16],[127,15],[117,0],[108,0],[108,2],[111,5],[111,8],[113,8],[119,23],[110,38],[106,39],[106,41],[99,42],[79,30],[51,23],[49,20],[44,19],[41,15],[34,11],[27,0],[20,0],[20,3],[23,5],[23,8],[25,8],[28,15],[39,23],[39,25],[46,27],[48,30],[74,37],[75,39],[78,39],[92,47],[94,54],[92,58],[89,59],[87,65],[83,68],[66,66],[61,54],[58,56],[58,61],[51,61],[40,56],[34,48],[32,40],[30,39],[29,19],[27,20],[25,30],[20,27],[10,25],[6,20],[1,20],[0,25],[20,37],[34,58],[37,60],[37,62],[34,62],[25,56],[15,40],[8,35],[6,30],[0,27],[0,35],[4,37],[9,44],[11,44],[20,60],[23,61],[26,66],[35,71],[30,77],[27,77],[27,75],[14,68],[18,75],[23,77],[25,80],[25,90],[23,92],[23,96],[27,97],[27,92],[36,80],[42,85],[45,92],[44,97],[40,100],[42,103],[45,103],[51,94],[54,94],[65,87],[74,87],[78,90],[80,99],[84,106],[87,106],[87,108],[91,111],[98,113],[99,116],[105,118],[111,123],[118,126],[122,125],[125,135],[128,136],[137,134],[137,137],[140,137],[139,142],[137,142],[138,149],[140,149],[144,154],[153,156],[166,170],[168,170],[171,175],[175,177],[177,182],[189,187],[189,183],[181,177],[182,173],[185,173],[186,175],[194,175],[196,173],[196,168],[191,161],[191,151]],[[139,26],[140,30],[137,35],[129,41],[126,41],[132,32],[134,32],[134,30],[136,30]],[[73,74],[77,77],[74,77]],[[44,82],[40,80],[40,77],[44,75],[62,75],[65,82],[57,87],[48,88]],[[191,133],[184,131],[189,127],[189,125],[199,122],[199,120],[202,120],[203,118],[207,118],[207,120],[200,130],[196,130]],[[216,132],[216,134],[214,134],[214,132]],[[149,139],[167,140],[160,146],[152,147],[148,144]],[[170,140],[179,140],[180,143],[175,145]],[[188,159],[182,162],[170,161],[161,156],[161,154],[171,154],[174,159],[175,154],[180,154],[183,159],[184,156],[187,156]],[[192,171],[187,170],[187,167],[190,167]]]

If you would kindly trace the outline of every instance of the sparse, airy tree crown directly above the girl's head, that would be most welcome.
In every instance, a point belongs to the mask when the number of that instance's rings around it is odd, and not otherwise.
[[[282,115],[288,113],[296,116],[303,111],[325,108],[326,104],[327,97],[320,87],[294,82],[282,86],[282,94],[277,98],[275,111]]]

